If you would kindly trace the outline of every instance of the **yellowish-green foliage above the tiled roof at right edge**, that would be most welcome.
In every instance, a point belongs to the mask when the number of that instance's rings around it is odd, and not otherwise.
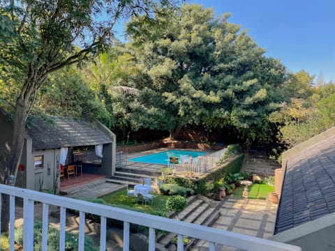
[[[335,102],[335,85],[329,83],[316,89],[311,86],[311,77],[300,78],[301,95],[291,93],[289,102],[284,102],[278,111],[270,115],[270,121],[276,123],[280,131],[279,141],[289,148],[335,126],[332,105]],[[297,84],[297,77],[294,83]]]

